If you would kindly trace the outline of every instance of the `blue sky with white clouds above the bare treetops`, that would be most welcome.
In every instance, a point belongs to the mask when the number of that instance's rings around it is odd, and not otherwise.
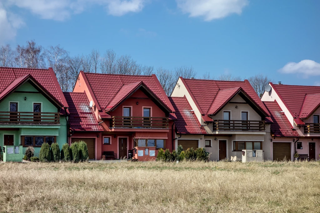
[[[155,69],[320,85],[319,8],[318,0],[0,0],[0,44],[35,39],[71,56],[113,49]]]

